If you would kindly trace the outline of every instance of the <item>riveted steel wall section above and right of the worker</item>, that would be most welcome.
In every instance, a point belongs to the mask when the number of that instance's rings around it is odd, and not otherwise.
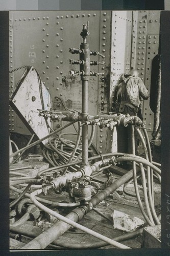
[[[131,67],[138,70],[149,92],[151,91],[152,61],[158,54],[159,47],[159,19],[160,11],[133,11]],[[150,99],[143,101],[142,113],[146,127],[149,129],[149,137],[152,138],[154,113],[150,108]]]

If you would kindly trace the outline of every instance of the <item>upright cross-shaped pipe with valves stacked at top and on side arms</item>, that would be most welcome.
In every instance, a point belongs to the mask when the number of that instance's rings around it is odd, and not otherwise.
[[[87,25],[83,24],[83,30],[81,36],[83,42],[80,45],[80,49],[70,48],[71,54],[79,54],[80,59],[70,59],[70,63],[73,65],[80,65],[80,71],[70,71],[71,76],[81,76],[82,80],[82,113],[76,114],[70,111],[44,111],[39,110],[39,115],[45,118],[50,117],[51,120],[63,120],[63,121],[81,121],[82,126],[82,166],[88,165],[88,125],[98,125],[101,129],[103,127],[109,127],[113,130],[116,125],[127,126],[129,123],[136,125],[143,125],[143,122],[137,116],[130,115],[117,115],[113,113],[101,114],[101,115],[89,115],[88,114],[88,80],[90,76],[104,75],[104,73],[96,73],[90,71],[90,66],[104,65],[105,62],[90,61],[90,55],[99,55],[102,58],[105,56],[98,51],[91,51],[87,42],[87,36],[89,35],[88,22]]]

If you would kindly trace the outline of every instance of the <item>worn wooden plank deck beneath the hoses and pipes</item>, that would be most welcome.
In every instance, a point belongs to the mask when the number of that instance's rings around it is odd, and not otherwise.
[[[23,164],[23,163],[22,163]],[[27,163],[28,164],[28,163]],[[43,163],[40,163],[40,165],[43,165]],[[14,167],[14,166],[12,166]],[[42,167],[41,167],[42,168]],[[116,168],[117,169],[117,168]],[[23,172],[23,171],[22,171]],[[26,172],[26,170],[25,170]],[[30,169],[28,169],[28,172],[30,172]],[[115,171],[116,173],[118,172],[117,170]],[[119,170],[121,173],[121,170]],[[126,172],[126,170],[125,170]],[[35,175],[35,169],[34,169],[34,175]],[[118,174],[114,174],[115,178],[119,178],[120,176]],[[96,180],[100,182],[105,182],[107,180],[107,176],[105,174],[100,175]],[[160,185],[156,184],[156,189],[155,189],[155,195],[156,196],[156,209],[157,209],[157,214],[160,212]],[[140,186],[139,186],[140,188]],[[132,184],[127,187],[127,190],[131,194],[135,194],[134,187]],[[14,193],[11,191],[10,193],[10,198],[14,199],[17,197],[17,193]],[[57,201],[57,202],[69,202],[68,199],[68,194],[63,192],[60,195],[56,195],[54,191],[51,191],[50,195],[47,196],[42,196],[43,198],[50,199],[52,201]],[[71,209],[70,207],[52,207],[53,210],[58,210],[60,214],[62,215],[67,215]],[[122,211],[125,214],[128,214],[130,216],[135,216],[140,219],[143,219],[143,216],[140,212],[138,203],[136,201],[135,197],[127,196],[125,194],[119,196],[118,198],[116,195],[110,195],[105,199],[104,202],[101,204],[97,205],[93,210],[88,212],[88,214],[82,219],[79,224],[90,228],[91,230],[94,230],[96,232],[99,232],[103,234],[104,236],[108,238],[115,238],[118,237],[124,233],[125,231],[122,230],[116,230],[113,228],[113,219],[111,217],[111,214],[114,210]],[[45,221],[47,221],[45,219]],[[48,223],[49,224],[49,223]],[[50,225],[50,224],[49,224]],[[19,227],[20,232],[22,233],[22,230],[30,230],[34,233],[35,236],[38,236],[42,232],[42,227],[40,228],[37,224],[37,226],[33,225],[32,221],[27,221],[25,224]],[[28,238],[25,236],[22,236],[21,242],[16,241],[12,238],[10,238],[10,249],[15,250],[15,249],[21,249],[24,244],[28,243],[30,239],[33,238]],[[93,242],[99,242],[100,240],[82,232],[81,230],[75,229],[75,228],[70,228],[68,231],[66,231],[62,236],[58,238],[58,241],[65,241],[68,243],[93,243]],[[129,239],[127,241],[121,242],[122,244],[125,244],[131,248],[140,248],[141,247],[141,242],[142,238],[136,237],[134,239]],[[107,245],[101,248],[113,248],[111,245]],[[63,247],[59,246],[48,246],[48,249],[64,249]]]

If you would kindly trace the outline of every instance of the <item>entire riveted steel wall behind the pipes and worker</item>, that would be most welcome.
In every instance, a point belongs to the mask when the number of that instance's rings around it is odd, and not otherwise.
[[[105,66],[90,66],[91,71],[104,72],[105,76],[90,77],[89,113],[106,113],[111,110],[112,93],[120,75],[131,68],[139,71],[150,91],[152,60],[158,53],[159,16],[160,11],[10,12],[10,70],[34,66],[52,96],[53,109],[64,109],[63,100],[66,108],[81,111],[80,77],[68,73],[79,70],[79,66],[69,63],[69,59],[79,56],[69,53],[69,48],[80,47],[82,24],[88,20],[90,50],[105,55]],[[90,59],[103,60],[99,56]],[[10,74],[10,93],[23,71]],[[10,131],[27,134],[12,111]],[[143,116],[152,133],[154,113],[149,100],[143,103]],[[54,122],[54,129],[59,125],[61,122]],[[109,130],[96,128],[94,144],[100,153],[112,150],[112,136]]]

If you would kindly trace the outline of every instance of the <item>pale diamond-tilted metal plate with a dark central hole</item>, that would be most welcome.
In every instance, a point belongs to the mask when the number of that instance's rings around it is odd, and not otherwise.
[[[26,75],[20,87],[14,92],[12,97],[12,105],[21,120],[25,122],[28,129],[35,133],[39,139],[48,135],[48,129],[44,117],[39,116],[37,109],[42,109],[40,89],[37,73],[34,68],[23,74]],[[44,109],[50,110],[52,99],[44,84],[42,83],[42,96],[44,102]],[[50,122],[49,122],[50,125]],[[44,140],[45,144],[47,140]]]

